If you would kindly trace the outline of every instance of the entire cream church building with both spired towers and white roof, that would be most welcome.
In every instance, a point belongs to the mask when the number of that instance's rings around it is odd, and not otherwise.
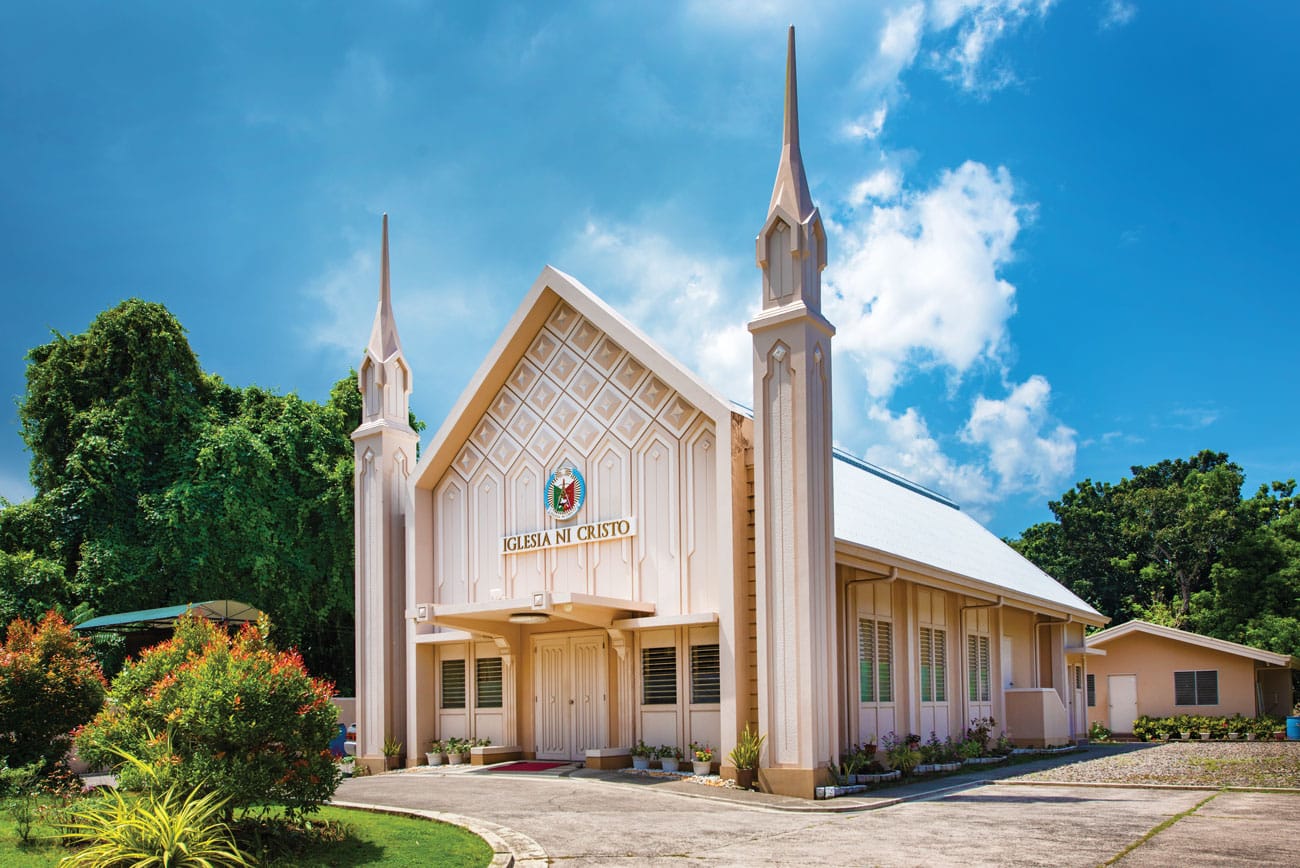
[[[826,233],[785,130],[757,239],[754,411],[594,292],[542,270],[416,461],[393,318],[359,381],[358,755],[430,739],[618,765],[637,741],[727,752],[811,797],[845,746],[1086,732],[1086,626],[1105,617],[945,498],[831,442]],[[755,291],[758,281],[755,281]]]

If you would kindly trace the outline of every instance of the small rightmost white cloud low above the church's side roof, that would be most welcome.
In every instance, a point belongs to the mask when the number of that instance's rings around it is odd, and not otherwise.
[[[975,399],[962,439],[988,451],[998,492],[1049,495],[1074,472],[1076,434],[1048,413],[1052,386],[1040,376],[1005,399]]]

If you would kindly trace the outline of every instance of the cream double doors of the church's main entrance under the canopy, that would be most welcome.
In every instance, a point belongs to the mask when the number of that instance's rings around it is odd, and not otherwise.
[[[533,721],[537,759],[581,760],[607,747],[604,635],[567,633],[533,639]]]

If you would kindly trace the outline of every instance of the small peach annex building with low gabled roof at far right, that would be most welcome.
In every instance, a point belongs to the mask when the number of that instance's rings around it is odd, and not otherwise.
[[[1143,715],[1291,713],[1295,656],[1147,621],[1087,637],[1088,720],[1131,733]]]

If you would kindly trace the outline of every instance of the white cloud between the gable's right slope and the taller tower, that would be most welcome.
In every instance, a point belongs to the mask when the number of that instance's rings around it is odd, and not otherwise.
[[[682,249],[644,226],[595,221],[573,236],[560,261],[723,398],[749,403],[753,350],[745,324],[754,311],[745,292],[759,301],[757,269]]]

